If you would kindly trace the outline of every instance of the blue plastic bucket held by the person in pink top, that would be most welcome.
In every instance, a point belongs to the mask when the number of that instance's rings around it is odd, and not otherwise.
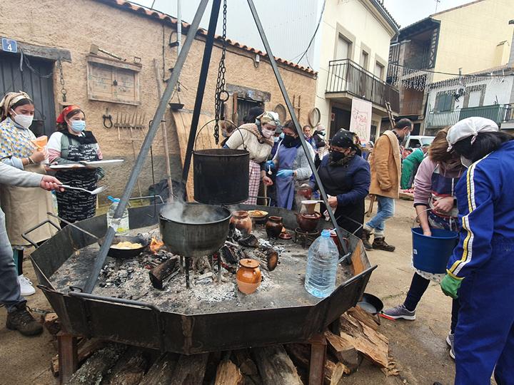
[[[432,236],[423,235],[421,227],[414,227],[413,265],[423,272],[444,274],[446,265],[458,243],[458,232],[431,229]]]

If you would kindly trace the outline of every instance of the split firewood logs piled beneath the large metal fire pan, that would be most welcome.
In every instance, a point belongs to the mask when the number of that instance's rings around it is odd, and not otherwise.
[[[388,340],[378,332],[378,317],[355,307],[331,325],[324,337],[327,342],[324,384],[336,385],[351,375],[363,359],[376,364],[386,375],[398,374],[388,357]],[[211,354],[159,354],[157,351],[114,343],[90,354],[72,376],[69,384],[308,384],[311,347],[286,344]],[[99,345],[101,344],[101,345]],[[84,352],[86,353],[86,352]],[[79,360],[84,359],[79,347]]]

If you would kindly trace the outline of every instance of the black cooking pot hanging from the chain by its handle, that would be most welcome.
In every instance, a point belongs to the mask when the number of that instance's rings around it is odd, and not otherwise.
[[[240,135],[242,138],[243,135]],[[250,153],[246,146],[245,150],[193,150],[194,199],[207,205],[244,202],[248,199],[249,168]]]

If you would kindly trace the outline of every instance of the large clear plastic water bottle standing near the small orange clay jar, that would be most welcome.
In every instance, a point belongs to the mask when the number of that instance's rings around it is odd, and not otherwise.
[[[328,297],[336,289],[339,252],[330,231],[323,230],[308,250],[306,290],[314,297]]]

